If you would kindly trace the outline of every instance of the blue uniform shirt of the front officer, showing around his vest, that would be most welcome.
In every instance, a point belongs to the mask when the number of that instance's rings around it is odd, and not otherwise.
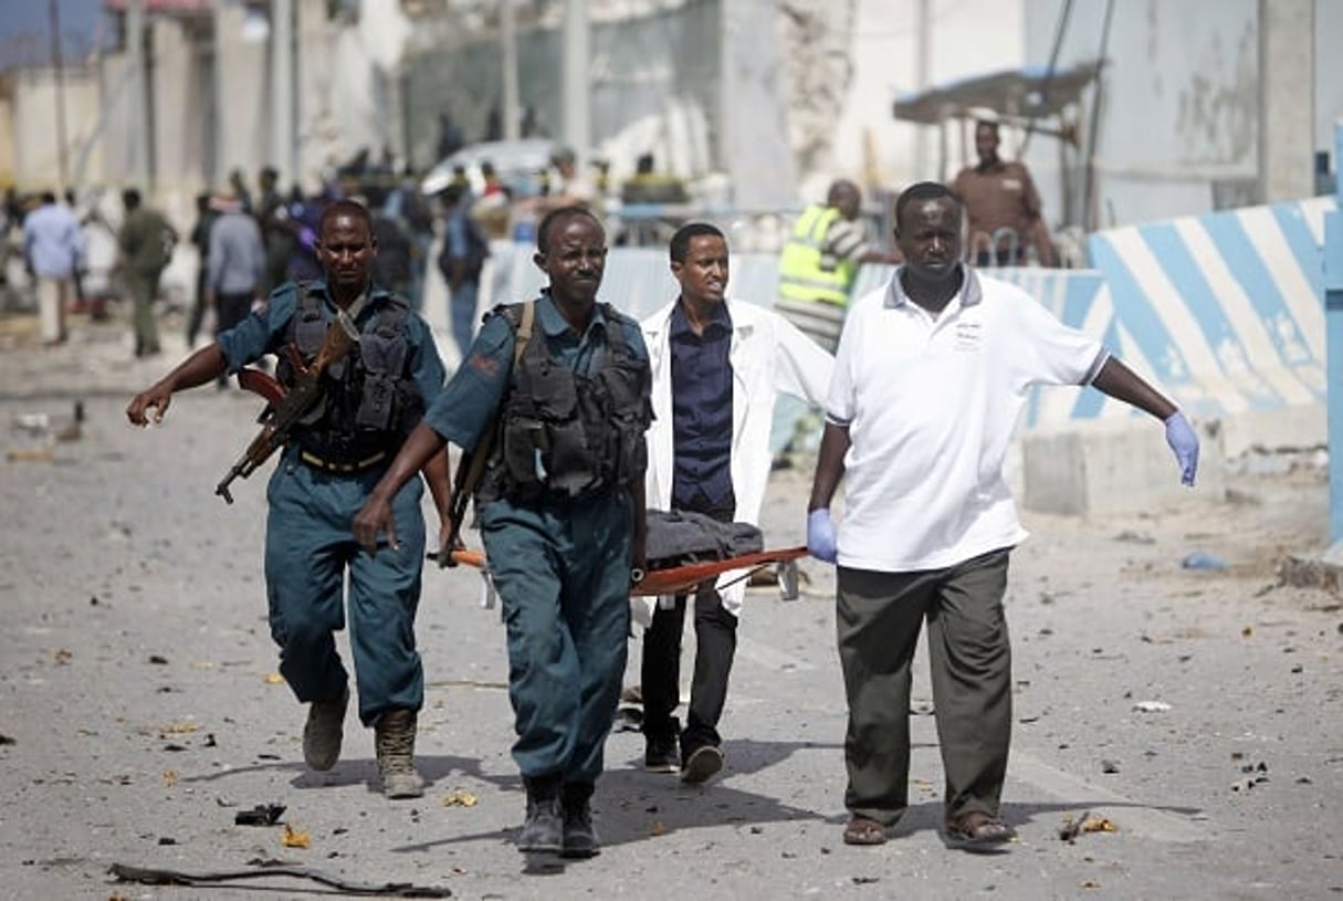
[[[569,328],[549,290],[543,290],[536,301],[536,325],[532,341],[544,340],[551,357],[561,367],[591,376],[603,363],[611,328],[600,306],[592,307],[583,333]],[[647,365],[649,352],[643,333],[633,320],[623,320],[624,342],[637,360]],[[424,424],[458,447],[471,451],[494,419],[496,411],[512,380],[513,326],[504,316],[492,316],[466,353],[466,360],[446,385],[438,400],[424,414]]]

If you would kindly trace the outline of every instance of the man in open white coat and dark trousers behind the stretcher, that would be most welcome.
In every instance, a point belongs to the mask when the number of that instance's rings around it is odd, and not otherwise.
[[[690,223],[677,231],[672,274],[681,295],[641,324],[653,365],[649,506],[755,524],[770,477],[775,397],[783,391],[821,404],[834,360],[778,313],[727,298],[728,243],[716,227]],[[728,573],[694,592],[697,650],[684,730],[673,714],[686,596],[635,610],[643,622],[639,614],[651,614],[641,665],[651,772],[702,783],[723,768],[717,725],[745,596],[745,584],[727,584],[732,580]]]

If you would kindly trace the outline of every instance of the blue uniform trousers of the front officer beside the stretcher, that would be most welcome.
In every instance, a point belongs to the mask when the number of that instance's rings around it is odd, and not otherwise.
[[[481,510],[524,777],[592,783],[602,773],[630,634],[631,537],[624,493]]]

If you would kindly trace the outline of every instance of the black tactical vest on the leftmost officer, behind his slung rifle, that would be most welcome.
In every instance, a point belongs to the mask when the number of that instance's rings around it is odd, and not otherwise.
[[[305,363],[312,363],[333,320],[320,291],[306,285],[298,290],[287,341]],[[383,293],[375,294],[371,303],[377,312],[368,317],[359,344],[322,373],[318,400],[293,432],[302,450],[324,461],[355,463],[395,453],[424,415],[424,395],[410,371],[410,307]],[[283,353],[275,375],[281,384],[293,385],[294,367]]]

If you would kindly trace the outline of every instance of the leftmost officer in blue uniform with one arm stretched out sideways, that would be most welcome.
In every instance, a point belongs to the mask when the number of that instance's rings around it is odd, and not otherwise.
[[[279,671],[309,704],[304,757],[330,769],[340,757],[348,674],[334,631],[345,626],[344,581],[349,575],[351,649],[359,717],[375,730],[377,768],[388,798],[418,798],[416,713],[424,673],[415,649],[415,610],[424,557],[423,483],[406,479],[391,501],[400,547],[365,553],[351,536],[355,513],[368,500],[396,451],[443,385],[443,363],[423,320],[371,281],[377,244],[368,211],[351,200],[325,209],[318,256],[326,279],[293,282],[266,306],[187,357],[146,391],[126,416],[137,426],[160,422],[172,395],[236,373],[266,353],[278,354],[281,383],[293,384],[287,345],[306,361],[329,328],[357,332],[359,342],[321,376],[317,406],[294,428],[266,491],[266,594]],[[432,454],[423,473],[439,510],[447,510],[447,457]],[[446,513],[445,513],[446,516]]]

